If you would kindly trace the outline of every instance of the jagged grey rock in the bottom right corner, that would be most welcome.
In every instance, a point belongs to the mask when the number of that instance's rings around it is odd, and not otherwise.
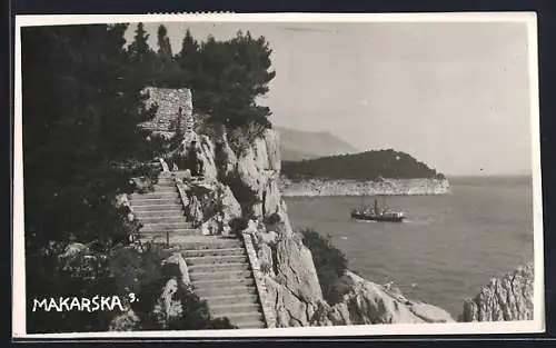
[[[533,264],[494,278],[464,302],[461,321],[533,320]]]

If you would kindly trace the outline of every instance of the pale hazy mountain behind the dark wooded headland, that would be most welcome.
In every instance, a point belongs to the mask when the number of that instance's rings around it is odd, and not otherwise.
[[[311,132],[275,127],[280,135],[284,161],[300,161],[319,157],[354,153],[358,150],[330,132]]]

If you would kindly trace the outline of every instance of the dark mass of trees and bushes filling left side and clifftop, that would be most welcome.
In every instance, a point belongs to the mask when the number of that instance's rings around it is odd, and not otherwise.
[[[270,126],[269,110],[254,101],[268,91],[267,83],[274,78],[264,38],[254,40],[239,33],[229,41],[209,38],[198,44],[186,33],[181,51],[172,56],[166,28],[160,27],[157,33],[157,51],[149,47],[142,24],[126,49],[127,28],[22,29],[26,277],[30,299],[111,296],[127,287],[143,297],[148,307],[161,289],[163,278],[157,271],[160,250],[138,257],[126,249],[133,227],[122,223],[121,212],[112,206],[117,193],[133,189],[131,177],[156,181],[158,169],[149,163],[165,151],[162,143],[145,141],[146,135],[137,128],[156,112],[145,109],[145,87],[198,90],[195,102],[208,116],[207,121],[230,128],[252,122]],[[88,276],[66,269],[58,257],[72,241],[87,243],[97,262],[87,266]],[[128,260],[125,271],[113,268],[121,258]],[[206,306],[196,305],[198,298],[185,294],[182,300],[188,310],[173,328],[229,326],[225,319],[207,317]],[[150,309],[136,306],[149,326]],[[189,311],[195,308],[198,310]],[[111,318],[110,314],[28,312],[28,330],[106,330]]]

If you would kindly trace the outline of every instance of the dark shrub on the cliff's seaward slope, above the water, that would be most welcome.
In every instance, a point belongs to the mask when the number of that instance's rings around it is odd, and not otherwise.
[[[346,292],[341,282],[348,266],[346,256],[332,246],[330,236],[324,238],[314,229],[301,230],[301,236],[304,245],[312,253],[325,300],[331,305],[338,302]]]

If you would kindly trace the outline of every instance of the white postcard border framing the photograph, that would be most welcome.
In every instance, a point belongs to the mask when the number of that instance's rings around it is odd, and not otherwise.
[[[21,28],[53,24],[117,22],[524,22],[528,26],[529,88],[534,193],[534,320],[455,324],[399,324],[368,326],[304,327],[277,329],[191,330],[33,334],[26,331],[23,160],[21,105]],[[544,332],[544,252],[540,173],[539,102],[537,68],[537,18],[535,12],[474,13],[199,13],[199,14],[91,14],[91,16],[17,16],[14,32],[14,167],[13,167],[13,269],[12,335],[17,338],[187,338],[187,337],[298,337],[298,336],[374,336],[374,335],[461,335]],[[463,302],[464,299],[461,299]]]

